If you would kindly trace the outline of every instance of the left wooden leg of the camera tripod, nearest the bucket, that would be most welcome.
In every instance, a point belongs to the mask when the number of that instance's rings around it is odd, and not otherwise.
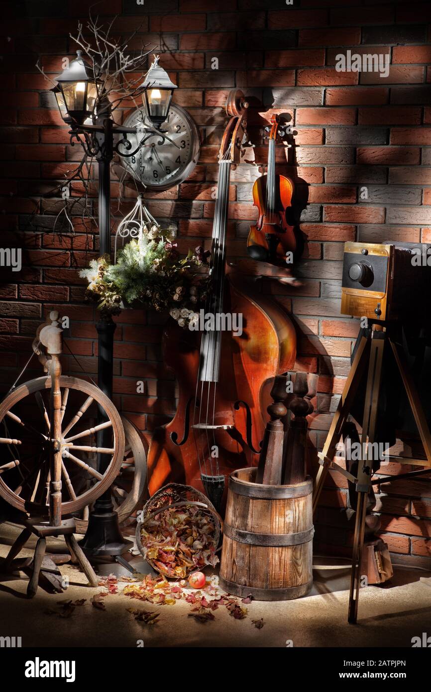
[[[370,336],[362,336],[358,350],[356,351],[356,356],[354,362],[351,365],[349,376],[347,377],[345,387],[342,390],[341,399],[338,403],[338,408],[332,419],[331,427],[325,440],[322,455],[327,459],[333,459],[333,455],[336,452],[336,446],[342,435],[342,428],[347,421],[349,412],[351,409],[351,404],[356,397],[356,392],[358,386],[363,376],[365,370],[365,365],[368,361],[368,353],[370,347]],[[327,477],[329,468],[329,461],[323,460],[318,468],[318,474],[315,478],[314,491],[313,491],[313,513],[317,509],[320,493],[322,492],[324,480]]]

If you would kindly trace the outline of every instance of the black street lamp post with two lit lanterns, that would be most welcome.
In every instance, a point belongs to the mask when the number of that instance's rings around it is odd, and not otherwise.
[[[147,78],[140,89],[147,116],[154,127],[144,125],[139,129],[142,138],[138,147],[131,152],[128,134],[137,134],[136,127],[116,125],[111,118],[109,100],[102,96],[102,82],[95,79],[93,69],[82,59],[82,51],[77,51],[73,60],[61,75],[57,77],[58,85],[52,89],[57,100],[60,114],[68,125],[71,125],[71,143],[76,139],[86,154],[95,156],[98,161],[99,195],[99,239],[100,255],[111,254],[111,161],[116,152],[120,156],[134,156],[154,134],[165,138],[159,128],[169,113],[172,93],[176,85],[169,80],[167,73],[158,65],[158,57],[147,73]],[[149,89],[149,93],[147,93]],[[95,124],[87,124],[87,120]],[[143,121],[144,122],[144,121]],[[80,138],[84,136],[84,140]],[[114,138],[120,136],[117,142]],[[96,322],[98,331],[98,385],[102,392],[112,399],[113,382],[113,335],[116,324],[111,316],[103,316]],[[106,420],[99,408],[99,423]],[[110,432],[107,428],[98,431],[97,445],[102,448],[111,446]],[[98,471],[104,473],[107,467],[107,455],[98,453]],[[127,552],[132,543],[125,540],[118,525],[118,515],[113,509],[111,492],[108,489],[96,500],[89,516],[89,525],[80,545],[89,557],[120,556]]]

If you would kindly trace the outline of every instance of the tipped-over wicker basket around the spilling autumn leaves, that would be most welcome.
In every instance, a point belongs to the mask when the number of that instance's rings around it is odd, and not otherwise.
[[[208,500],[203,493],[196,490],[196,488],[192,488],[190,485],[169,483],[147,500],[144,505],[142,519],[138,521],[138,526],[136,527],[136,545],[142,556],[147,560],[147,563],[149,563],[156,572],[163,574],[163,572],[154,565],[153,561],[145,556],[145,549],[140,537],[140,529],[145,525],[145,522],[165,511],[165,509],[169,509],[169,507],[187,507],[187,505],[202,508],[204,512],[206,511],[212,515],[212,518],[215,520],[212,544],[214,545],[214,549],[217,549],[219,545],[220,533],[223,530],[223,520],[210,500]],[[187,571],[187,576],[195,569],[196,567],[192,567]],[[163,574],[163,576],[166,575]]]

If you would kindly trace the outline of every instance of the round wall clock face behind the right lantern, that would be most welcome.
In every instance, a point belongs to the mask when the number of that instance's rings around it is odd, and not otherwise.
[[[125,120],[125,127],[138,127],[140,131],[129,134],[134,156],[121,156],[121,163],[149,190],[167,190],[190,176],[199,158],[199,131],[189,114],[180,106],[171,104],[159,134],[143,132],[146,126],[154,127],[144,110],[137,110]],[[142,141],[144,140],[144,141]]]

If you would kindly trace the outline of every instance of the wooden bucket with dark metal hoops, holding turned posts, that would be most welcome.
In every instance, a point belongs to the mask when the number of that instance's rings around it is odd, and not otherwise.
[[[256,472],[240,468],[229,477],[220,585],[257,601],[297,599],[313,583],[313,481],[261,485]]]

